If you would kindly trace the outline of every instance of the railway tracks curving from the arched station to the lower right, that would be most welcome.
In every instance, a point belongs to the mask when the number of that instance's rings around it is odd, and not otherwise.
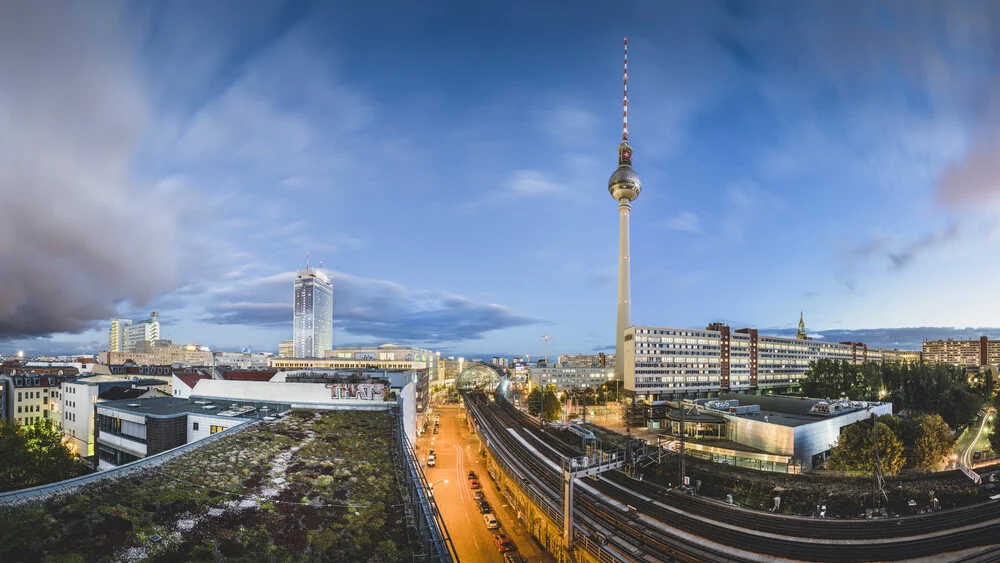
[[[563,456],[581,453],[558,437],[540,432],[533,419],[506,404],[502,398],[495,404],[485,401],[481,407],[494,424],[519,429],[522,439],[550,463],[558,465]],[[524,450],[524,446],[514,439],[508,447]],[[551,465],[534,462],[532,466],[540,475],[549,475],[550,486],[560,490],[561,477]],[[758,554],[795,560],[888,561],[937,555],[993,544],[996,542],[994,530],[1000,525],[1000,503],[996,502],[902,518],[821,520],[733,507],[636,481],[620,471],[605,473],[600,480],[583,482],[618,503],[633,506],[649,518],[688,534]],[[559,498],[558,495],[553,497]],[[679,541],[666,534],[650,533],[649,526],[635,522],[618,508],[606,508],[607,503],[589,493],[578,493],[578,499],[584,511],[596,516],[606,529],[645,545],[646,551],[652,551],[655,557],[662,554],[682,561],[734,560],[730,554],[709,553],[704,545],[691,545],[691,542]]]

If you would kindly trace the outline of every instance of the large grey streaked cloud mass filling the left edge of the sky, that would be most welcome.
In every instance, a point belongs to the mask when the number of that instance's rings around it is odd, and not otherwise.
[[[173,204],[129,173],[147,100],[122,16],[0,3],[0,337],[79,332],[173,284]]]

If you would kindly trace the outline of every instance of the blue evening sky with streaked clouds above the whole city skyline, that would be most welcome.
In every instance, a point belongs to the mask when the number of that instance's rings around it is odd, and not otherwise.
[[[918,348],[1000,337],[1000,5],[0,4],[0,353],[614,348],[632,320]]]

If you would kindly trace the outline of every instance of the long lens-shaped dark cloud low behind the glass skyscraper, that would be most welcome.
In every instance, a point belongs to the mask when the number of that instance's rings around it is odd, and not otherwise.
[[[439,291],[331,272],[334,326],[355,337],[426,345],[477,340],[492,330],[540,321],[510,309]],[[261,327],[292,324],[293,272],[243,282],[217,292],[221,298],[201,319]],[[339,337],[338,337],[339,338]]]

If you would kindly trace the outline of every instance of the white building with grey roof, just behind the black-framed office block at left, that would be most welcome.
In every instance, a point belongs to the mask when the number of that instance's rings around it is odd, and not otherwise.
[[[97,375],[62,384],[62,432],[66,444],[81,457],[94,455],[94,404],[103,401],[164,396],[161,379]]]

